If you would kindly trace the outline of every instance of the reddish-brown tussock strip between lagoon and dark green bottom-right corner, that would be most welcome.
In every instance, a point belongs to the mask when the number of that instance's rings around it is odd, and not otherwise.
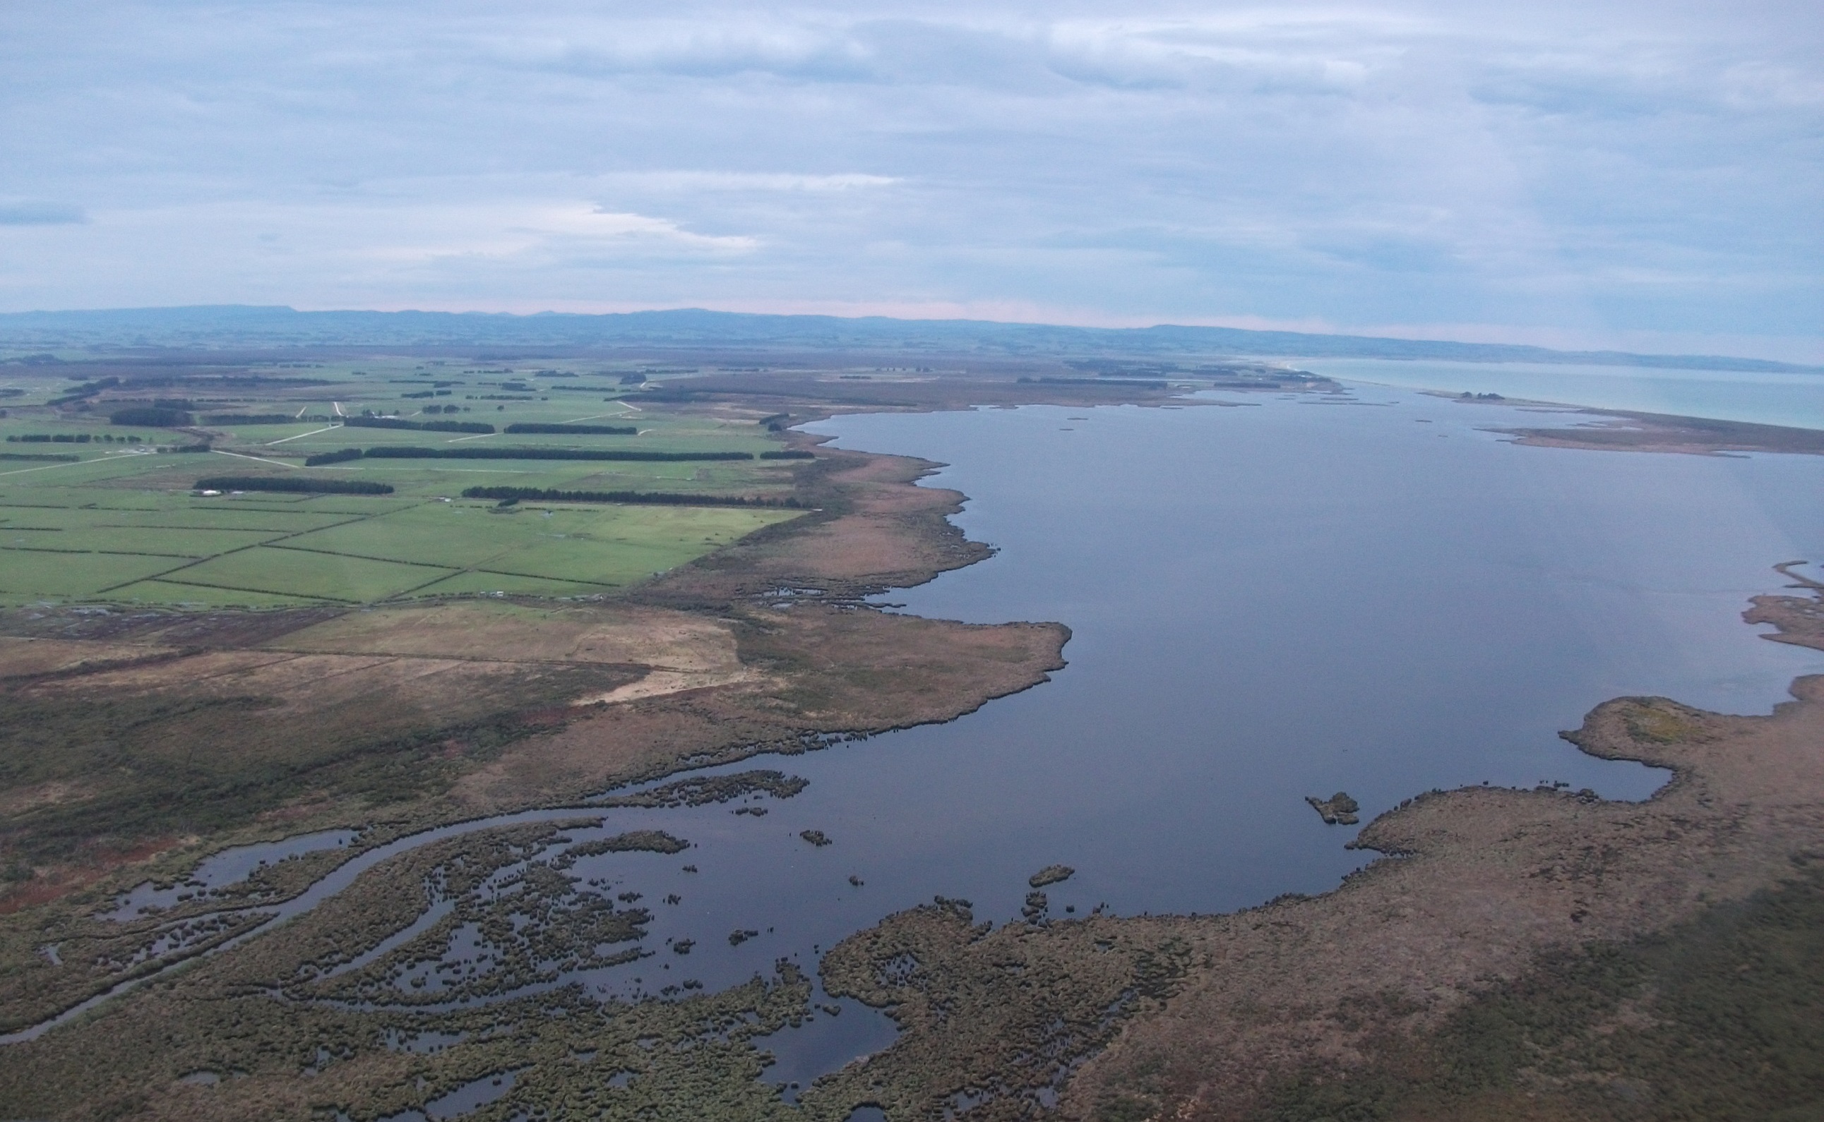
[[[1083,1067],[1065,1117],[1145,1091],[1166,1117],[1242,1118],[1270,1076],[1361,1064],[1386,1033],[1435,1027],[1545,949],[1658,931],[1777,883],[1824,847],[1824,678],[1793,696],[1764,718],[1609,701],[1569,736],[1673,769],[1643,803],[1421,796],[1363,831],[1359,845],[1390,856],[1328,896],[1160,922],[1204,969]],[[1392,1011],[1352,1013],[1375,1005]]]

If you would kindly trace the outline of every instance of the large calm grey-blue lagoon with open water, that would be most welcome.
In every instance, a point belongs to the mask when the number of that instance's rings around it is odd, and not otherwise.
[[[565,982],[640,996],[779,960],[814,973],[839,940],[936,894],[1010,922],[1052,863],[1076,869],[1047,887],[1058,920],[1322,892],[1373,854],[1344,849],[1355,829],[1324,825],[1306,796],[1348,790],[1363,821],[1468,783],[1647,798],[1663,772],[1587,758],[1558,730],[1622,694],[1767,712],[1795,676],[1824,672],[1824,654],[1740,621],[1784,583],[1771,565],[1824,559],[1824,457],[1525,448],[1496,432],[1534,423],[1379,386],[817,423],[846,448],[945,463],[928,483],[965,492],[958,521],[998,548],[890,592],[888,610],[1062,621],[1069,665],[945,725],[710,769],[806,778],[792,798],[460,823],[275,911],[487,825],[602,820],[575,842],[664,829],[693,849],[575,867],[589,891],[648,902],[655,954]],[[686,938],[689,954],[666,947]],[[810,1082],[892,1038],[881,1015],[839,1007],[764,1040],[766,1078]]]

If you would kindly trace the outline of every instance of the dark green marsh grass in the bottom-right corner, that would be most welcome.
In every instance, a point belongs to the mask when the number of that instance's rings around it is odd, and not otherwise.
[[[1824,865],[1627,944],[1547,956],[1432,1036],[1280,1082],[1260,1122],[1817,1118]],[[1116,1122],[1120,1113],[1105,1113]]]

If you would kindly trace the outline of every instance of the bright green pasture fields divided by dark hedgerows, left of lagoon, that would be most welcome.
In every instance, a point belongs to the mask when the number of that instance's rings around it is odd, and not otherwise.
[[[144,392],[193,401],[188,430],[108,424],[106,392],[88,403],[47,408],[75,375],[47,368],[0,366],[0,437],[88,434],[88,443],[0,443],[22,454],[77,455],[78,463],[0,461],[0,605],[144,603],[181,607],[279,607],[374,603],[420,596],[591,596],[666,572],[792,510],[715,506],[596,506],[522,503],[496,508],[458,495],[469,486],[560,490],[686,490],[741,495],[790,492],[790,463],[779,461],[540,461],[540,459],[358,459],[303,468],[303,457],[337,448],[465,444],[520,448],[615,448],[644,452],[768,452],[777,437],[750,421],[691,417],[642,406],[637,388],[618,384],[620,368],[600,364],[476,364],[410,357],[283,364],[274,377],[326,379],[328,386],[274,386],[270,392],[202,397],[181,388]],[[560,392],[533,368],[575,370],[565,382],[609,392]],[[482,372],[485,368],[487,372]],[[51,368],[55,370],[55,368]],[[358,373],[359,372],[359,373]],[[264,373],[264,372],[263,372]],[[502,381],[522,377],[531,393]],[[452,381],[449,393],[405,397]],[[496,382],[496,384],[483,384]],[[485,401],[487,395],[529,401]],[[611,401],[604,401],[609,397]],[[631,401],[624,401],[624,397]],[[122,397],[122,401],[128,401]],[[463,406],[463,413],[423,413],[423,406]],[[217,413],[390,413],[412,421],[635,424],[637,435],[609,434],[449,434],[345,426],[204,424]],[[128,444],[126,435],[142,437]],[[102,437],[115,437],[104,441]],[[208,441],[212,452],[153,452]],[[372,479],[390,495],[235,494],[202,497],[204,475],[308,472]]]

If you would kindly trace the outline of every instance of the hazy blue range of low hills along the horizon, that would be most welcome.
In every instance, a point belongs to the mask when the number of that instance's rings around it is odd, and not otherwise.
[[[1764,359],[1561,352],[1501,342],[1308,335],[1240,328],[1067,328],[970,319],[748,315],[679,308],[573,315],[544,311],[297,311],[244,304],[0,313],[0,346],[29,348],[792,348],[928,352],[983,357],[1275,355],[1301,359],[1445,359],[1457,362],[1589,362],[1669,370],[1802,372]]]

